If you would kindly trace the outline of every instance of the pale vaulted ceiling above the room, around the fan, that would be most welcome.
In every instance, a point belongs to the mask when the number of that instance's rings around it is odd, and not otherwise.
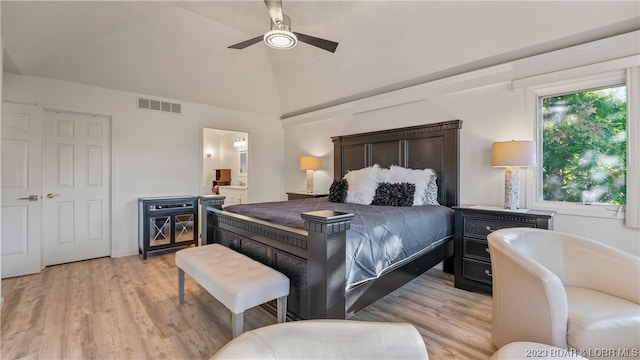
[[[640,29],[638,1],[287,1],[340,43],[227,46],[269,30],[251,1],[5,1],[4,71],[288,117]]]

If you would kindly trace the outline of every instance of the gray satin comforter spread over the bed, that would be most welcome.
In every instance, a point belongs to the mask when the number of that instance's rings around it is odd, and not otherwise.
[[[358,205],[332,203],[323,197],[232,205],[225,210],[303,230],[303,212],[335,210],[354,214],[347,231],[347,290],[428,251],[453,234],[453,210],[440,205]]]

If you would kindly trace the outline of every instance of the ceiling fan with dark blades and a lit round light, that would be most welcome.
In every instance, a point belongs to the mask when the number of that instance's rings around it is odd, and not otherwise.
[[[330,40],[320,39],[314,36],[291,31],[291,19],[282,13],[281,0],[264,0],[271,17],[271,31],[264,35],[256,36],[253,39],[231,45],[229,49],[244,49],[260,41],[275,49],[291,49],[298,41],[319,47],[323,50],[334,53],[338,43]]]

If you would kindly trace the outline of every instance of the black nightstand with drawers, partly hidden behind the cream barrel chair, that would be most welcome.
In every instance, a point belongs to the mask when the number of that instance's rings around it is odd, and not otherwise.
[[[487,235],[509,227],[553,229],[554,211],[507,210],[491,206],[455,209],[455,287],[491,293],[491,257]]]

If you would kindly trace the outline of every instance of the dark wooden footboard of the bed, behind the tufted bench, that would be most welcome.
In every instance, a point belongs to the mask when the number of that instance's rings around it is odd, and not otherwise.
[[[353,214],[303,213],[305,230],[207,209],[206,243],[219,243],[289,277],[294,319],[345,319],[346,231]]]

